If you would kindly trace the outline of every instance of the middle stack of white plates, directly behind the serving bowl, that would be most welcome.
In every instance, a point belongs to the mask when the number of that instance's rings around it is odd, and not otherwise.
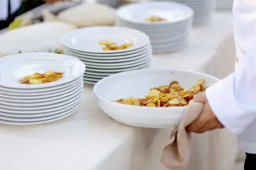
[[[109,40],[127,49],[103,50],[99,41]],[[150,40],[143,32],[118,26],[96,26],[76,29],[61,38],[66,55],[78,58],[86,65],[84,83],[96,84],[102,78],[118,72],[147,69],[151,65]]]

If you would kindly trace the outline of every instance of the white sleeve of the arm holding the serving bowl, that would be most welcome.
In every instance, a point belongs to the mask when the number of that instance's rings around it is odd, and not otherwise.
[[[232,133],[242,133],[256,118],[256,32],[239,71],[206,90],[218,120]]]

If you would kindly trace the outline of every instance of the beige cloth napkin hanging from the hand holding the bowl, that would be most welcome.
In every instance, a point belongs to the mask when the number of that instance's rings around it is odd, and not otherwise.
[[[200,115],[203,103],[194,102],[188,105],[179,127],[172,130],[168,144],[164,147],[160,158],[161,164],[169,169],[179,169],[186,166],[191,153],[192,137],[186,133],[185,127]]]

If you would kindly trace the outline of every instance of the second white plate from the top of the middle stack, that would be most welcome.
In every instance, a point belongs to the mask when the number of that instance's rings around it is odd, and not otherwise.
[[[131,51],[128,51],[128,52],[116,52],[116,53],[89,53],[89,52],[81,52],[81,51],[77,51],[77,50],[73,50],[73,49],[70,49],[70,48],[67,48],[64,46],[64,52],[67,51],[67,52],[73,52],[73,53],[76,53],[76,54],[81,54],[81,55],[86,55],[86,56],[97,56],[97,57],[109,57],[109,56],[119,56],[119,55],[128,55],[128,54],[135,54],[137,52],[141,52],[145,49],[147,49],[148,47],[150,47],[150,41],[148,41],[148,43],[141,47],[140,49],[135,49],[135,50],[131,50]]]

